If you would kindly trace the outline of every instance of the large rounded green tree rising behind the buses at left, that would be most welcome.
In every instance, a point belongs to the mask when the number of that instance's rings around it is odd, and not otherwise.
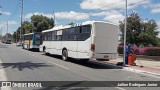
[[[42,15],[33,15],[31,23],[35,27],[35,32],[41,32],[54,27],[54,20]]]

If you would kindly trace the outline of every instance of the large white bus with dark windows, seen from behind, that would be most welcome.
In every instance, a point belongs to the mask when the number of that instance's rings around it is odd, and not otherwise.
[[[118,57],[118,26],[103,21],[57,26],[42,31],[44,54],[85,60],[109,60]]]

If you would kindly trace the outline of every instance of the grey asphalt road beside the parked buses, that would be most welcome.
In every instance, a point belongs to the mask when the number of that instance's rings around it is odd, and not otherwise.
[[[1,79],[8,81],[160,81],[160,78],[134,73],[107,64],[81,62],[60,56],[44,56],[42,52],[27,51],[14,44],[0,43]],[[2,75],[3,74],[3,75]],[[2,88],[3,89],[3,88]],[[12,90],[159,90],[150,87],[47,87],[10,88]]]

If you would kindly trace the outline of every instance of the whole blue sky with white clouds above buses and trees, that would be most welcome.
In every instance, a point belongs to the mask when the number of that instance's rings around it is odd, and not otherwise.
[[[13,33],[20,26],[21,0],[0,0],[0,28],[3,35]],[[24,0],[23,20],[30,21],[35,15],[56,16],[56,24],[69,22],[84,22],[88,20],[107,21],[118,24],[124,19],[125,0]],[[137,12],[140,17],[154,19],[160,31],[160,1],[159,0],[128,0],[128,14]],[[160,35],[159,35],[160,36]]]

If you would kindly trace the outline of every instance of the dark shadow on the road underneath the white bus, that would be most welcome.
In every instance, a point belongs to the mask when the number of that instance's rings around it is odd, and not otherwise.
[[[59,55],[48,55],[52,58],[57,58],[61,60],[61,56]],[[77,65],[93,68],[93,69],[122,69],[122,67],[117,67],[116,65],[111,65],[107,63],[103,63],[102,61],[93,62],[93,61],[84,61],[84,60],[76,60],[73,58],[69,58],[67,62],[74,63]]]

